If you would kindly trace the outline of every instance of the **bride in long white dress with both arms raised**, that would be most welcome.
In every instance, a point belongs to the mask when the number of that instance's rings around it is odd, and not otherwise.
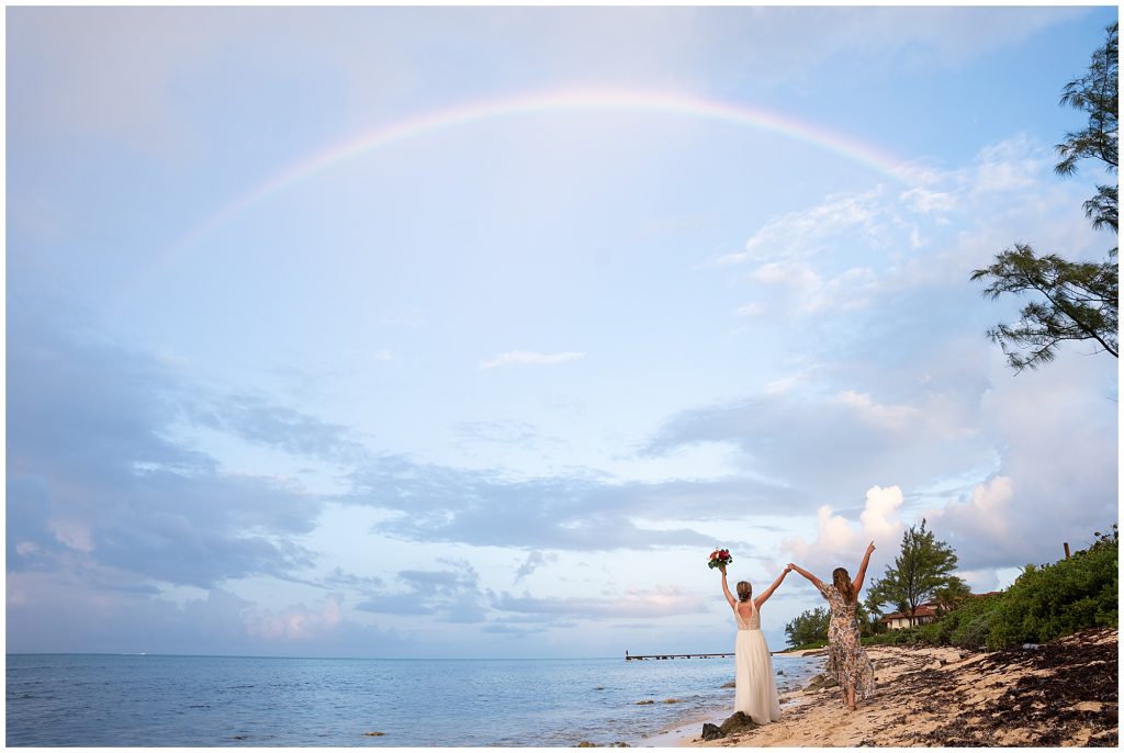
[[[785,575],[791,568],[785,568],[785,572],[778,575],[773,584],[756,599],[753,596],[753,587],[746,581],[737,583],[737,599],[729,592],[726,583],[726,566],[718,568],[722,571],[722,591],[726,595],[726,600],[734,610],[734,620],[737,623],[737,639],[734,642],[734,711],[743,711],[747,717],[758,724],[769,724],[780,719],[780,701],[777,698],[777,678],[773,677],[772,656],[769,655],[769,645],[765,636],[761,633],[761,605],[769,600],[772,592],[777,590]]]

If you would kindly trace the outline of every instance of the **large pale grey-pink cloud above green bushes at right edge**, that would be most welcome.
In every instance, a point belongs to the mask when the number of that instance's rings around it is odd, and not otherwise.
[[[980,412],[996,468],[926,512],[969,568],[1052,562],[1120,515],[1115,362],[1072,355],[1013,375],[992,354]]]

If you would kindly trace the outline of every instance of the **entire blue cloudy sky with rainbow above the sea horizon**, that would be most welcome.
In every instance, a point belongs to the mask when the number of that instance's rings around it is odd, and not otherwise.
[[[9,8],[8,651],[716,651],[715,545],[1082,546],[1116,361],[1015,375],[969,275],[1115,245],[1052,172],[1115,18]]]

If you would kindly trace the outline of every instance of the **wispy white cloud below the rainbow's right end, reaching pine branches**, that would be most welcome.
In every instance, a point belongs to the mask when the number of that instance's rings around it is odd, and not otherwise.
[[[1103,255],[1081,211],[1088,187],[1059,181],[1049,145],[1018,135],[980,148],[963,167],[928,167],[924,184],[831,196],[774,217],[719,264],[753,263],[738,316],[813,316],[901,305],[909,292],[970,291],[971,271],[1015,241],[1068,257]]]

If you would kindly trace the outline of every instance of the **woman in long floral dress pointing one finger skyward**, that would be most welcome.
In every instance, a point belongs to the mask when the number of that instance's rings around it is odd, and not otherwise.
[[[789,563],[789,568],[812,581],[831,606],[831,620],[827,624],[827,672],[834,674],[843,691],[843,702],[852,711],[855,700],[865,700],[874,691],[874,666],[862,650],[859,634],[859,620],[854,616],[859,605],[859,591],[867,577],[867,565],[874,552],[874,542],[867,547],[867,553],[859,565],[854,581],[846,568],[836,568],[832,572],[832,583],[825,586],[818,578],[803,568]]]

